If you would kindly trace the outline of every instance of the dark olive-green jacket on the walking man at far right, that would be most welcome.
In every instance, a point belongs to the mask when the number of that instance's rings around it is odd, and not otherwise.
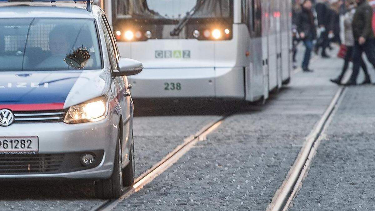
[[[365,39],[374,38],[372,31],[372,8],[364,1],[357,6],[353,16],[353,36],[357,41],[361,36]]]

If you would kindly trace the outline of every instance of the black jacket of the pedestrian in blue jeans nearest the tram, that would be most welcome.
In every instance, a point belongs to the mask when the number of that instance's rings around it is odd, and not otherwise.
[[[317,30],[314,23],[314,15],[311,11],[302,9],[296,19],[297,31],[305,33],[305,39],[315,39],[317,37]]]

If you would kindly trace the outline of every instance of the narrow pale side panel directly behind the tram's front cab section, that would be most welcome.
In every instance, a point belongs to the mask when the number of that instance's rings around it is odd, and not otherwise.
[[[269,1],[262,1],[262,51],[263,51],[263,96],[264,99],[267,99],[269,97],[269,90],[270,90],[270,84],[269,84],[269,66],[268,66],[268,34],[269,34],[269,23],[270,23],[270,3]]]

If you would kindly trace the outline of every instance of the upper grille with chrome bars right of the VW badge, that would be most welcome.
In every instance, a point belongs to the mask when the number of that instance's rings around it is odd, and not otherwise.
[[[14,112],[14,123],[62,122],[65,111]]]

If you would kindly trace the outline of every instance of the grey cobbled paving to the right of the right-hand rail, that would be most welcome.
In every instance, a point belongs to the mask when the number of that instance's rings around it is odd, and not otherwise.
[[[290,210],[375,209],[375,86],[349,87]]]

